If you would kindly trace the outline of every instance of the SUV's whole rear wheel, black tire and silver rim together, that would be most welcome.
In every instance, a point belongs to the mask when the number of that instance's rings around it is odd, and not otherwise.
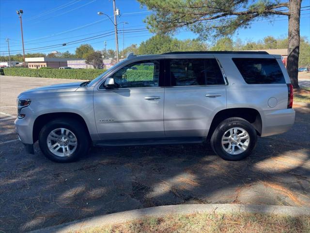
[[[238,161],[250,155],[256,141],[254,127],[243,118],[232,117],[217,126],[211,137],[211,147],[221,158]]]

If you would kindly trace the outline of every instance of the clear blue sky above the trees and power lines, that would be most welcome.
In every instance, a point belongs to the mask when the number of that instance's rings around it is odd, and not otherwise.
[[[310,0],[302,1],[300,34],[310,37]],[[116,0],[116,7],[121,16],[117,17],[119,32],[119,50],[131,44],[140,44],[152,36],[146,30],[143,19],[151,12],[141,8],[136,0]],[[11,54],[22,53],[20,22],[16,10],[22,9],[24,14],[23,31],[25,53],[52,51],[74,53],[81,44],[91,44],[95,50],[103,50],[105,41],[107,49],[115,49],[114,26],[105,15],[97,15],[101,11],[113,20],[112,0],[0,0],[0,55],[8,55],[6,38],[10,41]],[[122,23],[125,22],[125,23]],[[257,41],[267,35],[275,38],[287,36],[288,19],[276,16],[273,20],[261,19],[251,24],[248,29],[240,29],[233,39]],[[100,35],[100,36],[97,36]],[[100,38],[98,38],[100,37]],[[178,39],[193,39],[198,35],[181,31],[174,35]],[[88,41],[81,42],[81,39]],[[209,41],[206,41],[207,43]],[[66,46],[62,46],[67,43]],[[48,48],[41,48],[47,47]]]

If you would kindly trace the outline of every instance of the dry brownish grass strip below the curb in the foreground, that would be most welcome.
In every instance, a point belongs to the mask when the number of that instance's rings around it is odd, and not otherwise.
[[[194,214],[145,218],[78,233],[309,233],[309,216]]]

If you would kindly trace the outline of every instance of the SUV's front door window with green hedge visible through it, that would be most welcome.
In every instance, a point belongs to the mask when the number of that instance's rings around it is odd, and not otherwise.
[[[118,71],[111,78],[119,88],[158,86],[159,62],[157,60],[131,63]]]

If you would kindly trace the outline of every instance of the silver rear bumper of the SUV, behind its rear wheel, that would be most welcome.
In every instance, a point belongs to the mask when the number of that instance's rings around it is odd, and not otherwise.
[[[263,112],[262,137],[287,132],[294,124],[295,111],[292,108]]]

